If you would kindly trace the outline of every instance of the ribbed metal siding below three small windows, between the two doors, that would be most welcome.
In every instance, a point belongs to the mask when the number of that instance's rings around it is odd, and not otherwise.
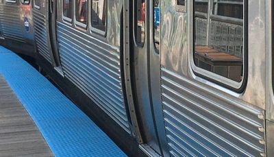
[[[119,51],[77,33],[75,29],[58,23],[64,75],[130,133],[121,85]]]

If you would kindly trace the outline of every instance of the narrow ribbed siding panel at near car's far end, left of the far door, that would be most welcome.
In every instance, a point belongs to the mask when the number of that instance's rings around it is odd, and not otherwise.
[[[47,45],[47,27],[46,27],[46,16],[38,10],[34,9],[34,31],[36,38],[36,47],[38,53],[40,53],[44,58],[51,62],[51,56],[49,54],[49,47]]]

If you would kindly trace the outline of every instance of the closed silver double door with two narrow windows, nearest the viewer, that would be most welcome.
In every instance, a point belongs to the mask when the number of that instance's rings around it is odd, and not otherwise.
[[[163,155],[165,153],[162,147],[165,147],[166,137],[160,105],[160,55],[158,50],[160,12],[158,4],[158,0],[130,1],[130,19],[132,20],[130,21],[130,55],[133,67],[132,82],[136,89],[134,90],[134,102],[142,124],[142,138],[145,143],[140,147],[149,154]],[[155,40],[154,36],[156,36]]]

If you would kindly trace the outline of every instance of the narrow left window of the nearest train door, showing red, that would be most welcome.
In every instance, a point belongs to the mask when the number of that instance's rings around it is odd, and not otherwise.
[[[143,45],[145,42],[145,0],[136,0],[135,6],[135,35],[136,43]]]

